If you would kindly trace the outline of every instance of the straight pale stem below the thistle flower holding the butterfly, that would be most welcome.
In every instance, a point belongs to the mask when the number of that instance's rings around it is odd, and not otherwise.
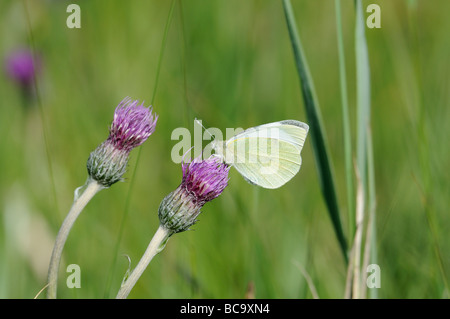
[[[164,246],[171,235],[172,232],[170,230],[162,225],[159,226],[136,268],[134,268],[130,276],[122,284],[122,287],[120,287],[116,299],[126,299],[128,297],[131,289],[133,289],[134,285],[139,280],[150,261],[152,261],[156,254],[164,249]]]

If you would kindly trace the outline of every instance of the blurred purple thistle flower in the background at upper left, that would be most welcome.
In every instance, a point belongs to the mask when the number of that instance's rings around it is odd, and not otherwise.
[[[34,77],[39,72],[39,63],[33,62],[33,54],[29,50],[19,50],[9,55],[5,61],[8,76],[29,90]]]

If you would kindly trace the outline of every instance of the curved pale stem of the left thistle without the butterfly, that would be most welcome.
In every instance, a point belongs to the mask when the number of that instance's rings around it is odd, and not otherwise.
[[[104,186],[100,185],[92,178],[88,178],[86,184],[81,188],[81,193],[77,194],[78,190],[76,191],[72,207],[59,229],[55,240],[55,246],[53,247],[50,266],[48,268],[47,299],[56,299],[59,264],[61,263],[62,251],[67,237],[69,236],[70,229],[87,203],[103,188]]]

